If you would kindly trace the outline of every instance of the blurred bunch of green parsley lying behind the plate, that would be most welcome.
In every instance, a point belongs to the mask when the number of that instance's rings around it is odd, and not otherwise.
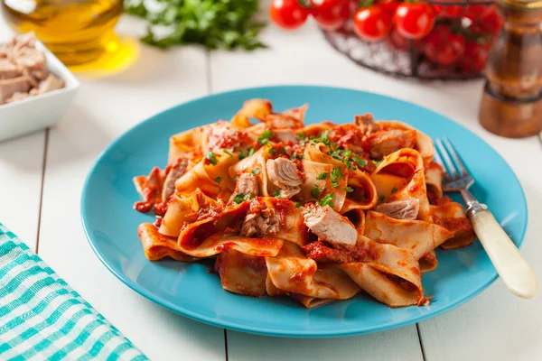
[[[173,45],[201,44],[208,49],[248,51],[265,48],[257,38],[265,25],[254,19],[258,0],[125,0],[125,11],[144,18],[148,23],[143,42],[169,48]],[[162,27],[158,36],[154,26]]]

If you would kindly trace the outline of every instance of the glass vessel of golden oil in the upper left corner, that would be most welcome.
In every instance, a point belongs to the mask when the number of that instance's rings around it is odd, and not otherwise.
[[[66,65],[96,60],[117,46],[123,0],[0,0],[5,21],[34,32]]]

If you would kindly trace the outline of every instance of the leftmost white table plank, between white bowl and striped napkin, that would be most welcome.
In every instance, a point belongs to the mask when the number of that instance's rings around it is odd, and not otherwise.
[[[12,33],[0,22],[0,43]],[[39,131],[0,143],[0,222],[31,249],[38,232],[44,139]]]

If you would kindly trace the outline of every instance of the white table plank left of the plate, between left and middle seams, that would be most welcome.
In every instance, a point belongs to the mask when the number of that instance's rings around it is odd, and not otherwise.
[[[201,49],[141,51],[124,73],[84,79],[74,105],[51,129],[40,255],[151,359],[222,360],[222,329],[185,319],[129,290],[99,262],[81,227],[83,181],[107,143],[146,117],[207,92]]]

